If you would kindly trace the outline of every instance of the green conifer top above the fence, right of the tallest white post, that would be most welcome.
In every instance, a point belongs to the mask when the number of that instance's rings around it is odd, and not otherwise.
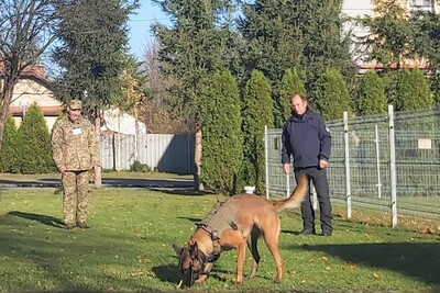
[[[428,109],[433,105],[429,83],[419,69],[399,72],[395,100],[396,111]]]

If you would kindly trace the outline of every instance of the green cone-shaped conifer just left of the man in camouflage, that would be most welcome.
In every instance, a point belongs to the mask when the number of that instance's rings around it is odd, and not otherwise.
[[[22,173],[47,173],[55,171],[52,159],[51,135],[41,108],[33,103],[28,108],[19,127],[21,139]]]

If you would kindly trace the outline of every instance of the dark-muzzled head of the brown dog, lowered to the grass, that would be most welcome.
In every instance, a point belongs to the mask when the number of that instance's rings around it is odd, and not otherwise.
[[[204,252],[197,247],[197,243],[189,244],[188,247],[180,248],[173,245],[179,258],[179,270],[184,274],[184,286],[191,286],[204,271]]]

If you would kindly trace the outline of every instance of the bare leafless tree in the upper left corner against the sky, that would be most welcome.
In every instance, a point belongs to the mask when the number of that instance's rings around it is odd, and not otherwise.
[[[55,41],[55,2],[0,0],[0,149],[14,86]]]

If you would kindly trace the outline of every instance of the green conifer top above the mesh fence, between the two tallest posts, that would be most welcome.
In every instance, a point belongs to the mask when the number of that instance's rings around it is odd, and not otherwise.
[[[356,93],[355,109],[361,116],[387,112],[385,86],[375,70],[362,76]]]

